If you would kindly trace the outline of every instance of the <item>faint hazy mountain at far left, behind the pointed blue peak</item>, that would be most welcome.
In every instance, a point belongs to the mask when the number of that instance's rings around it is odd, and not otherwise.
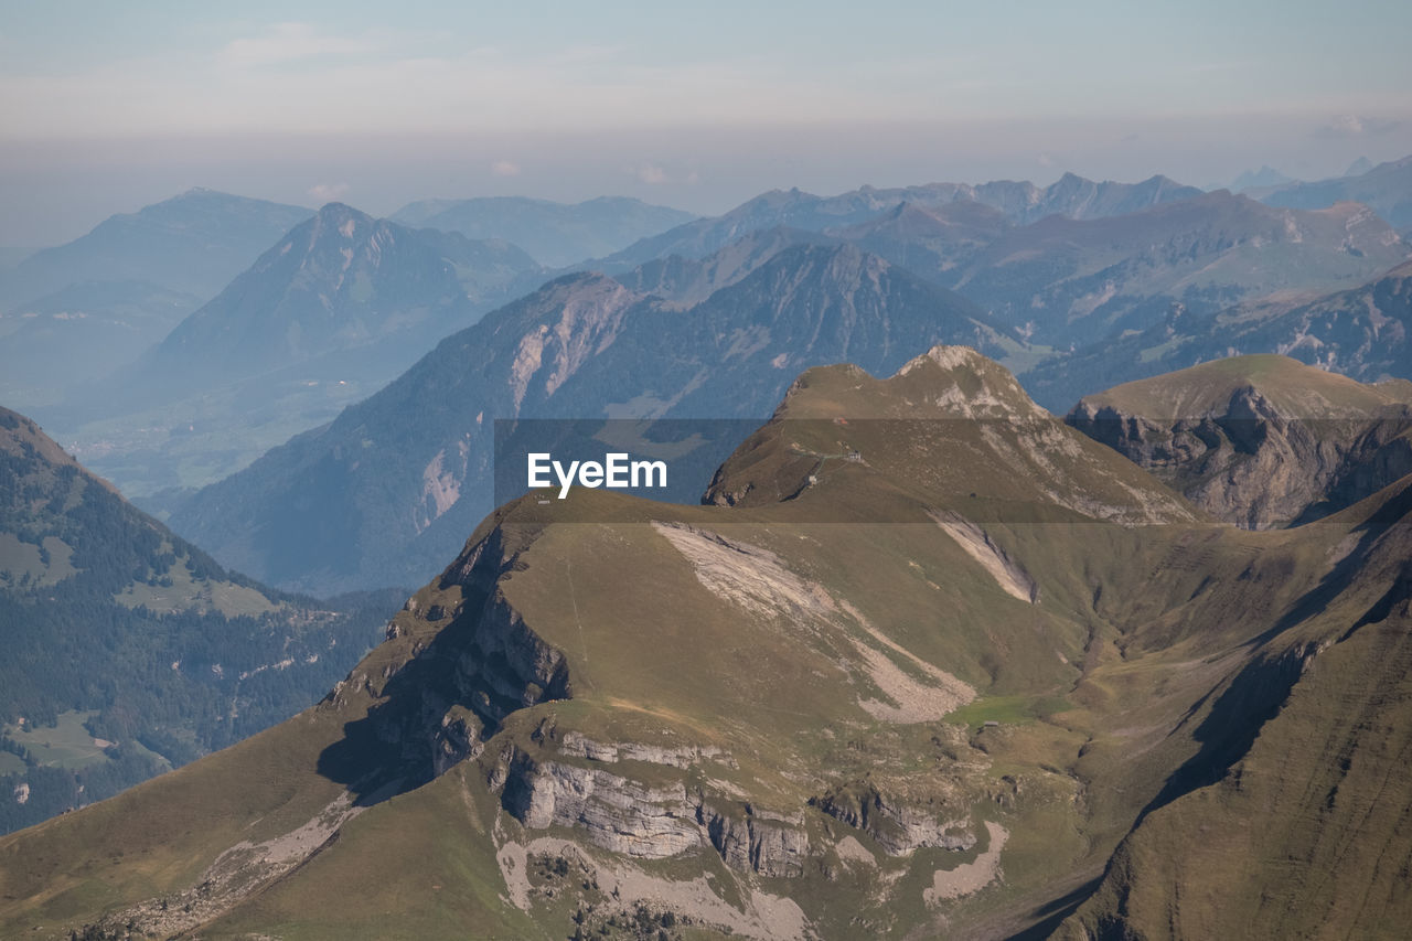
[[[110,216],[86,236],[0,271],[0,309],[85,281],[145,281],[206,300],[311,215],[302,206],[191,189]]]

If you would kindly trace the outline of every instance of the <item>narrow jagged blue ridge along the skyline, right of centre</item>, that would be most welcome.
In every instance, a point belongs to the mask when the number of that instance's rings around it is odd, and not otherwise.
[[[928,184],[897,189],[863,187],[837,196],[815,196],[799,189],[788,192],[772,189],[722,216],[698,219],[658,236],[645,237],[600,259],[594,267],[613,273],[674,254],[700,259],[748,232],[775,226],[833,232],[878,219],[904,203],[935,211],[953,202],[979,202],[997,209],[1010,222],[1028,225],[1051,215],[1075,219],[1125,215],[1199,195],[1200,189],[1182,187],[1166,177],[1152,177],[1139,184],[1100,184],[1075,174],[1065,174],[1049,187],[1012,181],[979,187],[967,184]]]

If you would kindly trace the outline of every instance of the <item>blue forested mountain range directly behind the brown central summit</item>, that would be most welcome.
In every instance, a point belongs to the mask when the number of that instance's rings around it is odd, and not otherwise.
[[[762,418],[794,370],[851,360],[890,372],[935,342],[1017,365],[1049,356],[1087,383],[1039,343],[1165,322],[1175,297],[1216,311],[1279,284],[1356,280],[1406,250],[1357,206],[1296,212],[1224,192],[1025,227],[952,201],[901,203],[826,233],[748,229],[705,259],[552,281],[446,339],[330,427],[193,495],[169,521],[291,589],[366,586],[376,572],[415,581],[491,506],[496,418]],[[974,307],[899,261],[988,302]]]

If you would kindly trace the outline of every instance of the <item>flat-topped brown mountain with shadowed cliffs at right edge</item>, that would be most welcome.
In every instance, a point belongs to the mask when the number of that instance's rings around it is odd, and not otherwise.
[[[1247,528],[1319,519],[1412,473],[1412,381],[1238,356],[1086,396],[1066,421]]]

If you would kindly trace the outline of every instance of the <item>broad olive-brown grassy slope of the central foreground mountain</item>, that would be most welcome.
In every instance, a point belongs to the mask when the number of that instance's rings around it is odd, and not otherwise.
[[[816,370],[791,408],[877,414],[888,391],[925,401],[921,393],[928,391],[929,369],[894,380],[890,389],[857,373]],[[931,381],[940,379],[933,374]],[[990,393],[1003,391],[995,383]],[[971,422],[957,427],[957,434],[971,434],[966,431]],[[778,437],[767,434],[727,465],[723,486],[741,475],[762,480],[767,468],[788,470],[799,456],[792,444],[829,444],[796,435],[819,434],[815,425],[774,428]],[[977,473],[986,462],[971,466],[966,486],[974,490],[956,490],[950,475],[922,472],[928,465],[916,454],[877,430],[867,431],[871,425],[847,428],[849,444],[864,461],[816,473],[818,482],[786,503],[666,507],[576,492],[563,503],[524,502],[487,520],[470,545],[498,534],[501,551],[515,557],[500,588],[525,625],[568,657],[575,698],[513,714],[483,759],[377,804],[301,869],[203,934],[572,934],[566,921],[572,893],[541,899],[531,913],[521,913],[500,899],[505,889],[493,859],[493,848],[504,841],[542,835],[524,832],[498,808],[486,793],[484,776],[508,745],[551,757],[548,739],[535,736],[545,721],[561,738],[573,729],[609,742],[724,747],[737,767],[693,766],[686,781],[700,784],[702,774],[719,776],[762,808],[798,811],[826,788],[871,780],[890,794],[959,810],[980,834],[980,842],[964,853],[918,851],[911,859],[884,860],[881,870],[858,872],[840,863],[836,841],[849,835],[874,853],[878,845],[863,831],[805,810],[806,828],[823,856],[799,879],[733,875],[710,849],[644,863],[658,876],[713,872],[727,897],[751,887],[788,893],[825,937],[860,930],[902,937],[914,927],[936,933],[943,927],[939,916],[957,934],[1035,924],[1046,914],[1067,913],[1059,900],[1103,873],[1173,769],[1202,756],[1206,740],[1197,726],[1217,691],[1237,682],[1254,654],[1309,634],[1298,629],[1267,639],[1267,630],[1300,610],[1320,584],[1341,589],[1348,572],[1364,565],[1365,584],[1327,605],[1320,623],[1347,626],[1350,613],[1377,600],[1370,595],[1374,586],[1385,589],[1382,569],[1391,550],[1370,555],[1372,547],[1339,567],[1334,550],[1350,533],[1357,535],[1361,517],[1356,514],[1299,531],[1245,533],[1200,520],[1159,485],[1123,470],[1131,475],[1120,478],[1124,483],[1145,487],[1147,502],[1163,497],[1173,516],[1186,521],[1121,527],[1073,510],[1045,509],[1038,495],[1025,493],[1015,480]],[[933,465],[974,454],[956,446],[960,439],[955,437],[946,441],[952,448],[935,451],[933,458],[945,459]],[[1082,438],[1076,446],[1077,456],[1070,455],[1076,466],[1103,478],[1113,456]],[[1111,478],[1087,486],[1111,499],[1127,493]],[[1027,497],[1029,514],[1017,519],[1015,507]],[[928,509],[964,509],[973,519],[988,520],[987,534],[1038,582],[1039,603],[1003,592],[929,520]],[[650,524],[665,519],[768,550],[799,579],[816,584],[834,602],[849,602],[860,619],[813,623],[802,616],[744,613],[709,591]],[[853,523],[840,524],[844,519]],[[247,832],[258,839],[308,819],[339,790],[315,773],[313,759],[339,739],[343,722],[354,722],[369,705],[393,695],[380,678],[446,629],[445,620],[432,620],[428,612],[432,605],[455,609],[460,592],[438,584],[422,589],[415,610],[397,617],[401,636],[354,671],[352,692],[318,711],[120,798],[0,841],[0,933],[90,920],[120,900],[171,892]],[[842,665],[850,657],[856,661],[851,643],[868,643],[864,622],[971,684],[976,702],[946,721],[892,725],[874,719],[858,701],[880,690]],[[907,657],[888,656],[897,668],[919,675]],[[363,678],[366,695],[359,692]],[[987,719],[1001,725],[987,728]],[[1203,735],[1210,738],[1209,730]],[[1298,763],[1298,749],[1288,747],[1286,754]],[[683,777],[657,764],[624,763],[613,770],[657,784]],[[1281,770],[1275,777],[1291,774]],[[1176,798],[1142,828],[1187,800]],[[213,825],[192,832],[198,818]],[[926,910],[921,892],[932,870],[979,859],[987,846],[986,821],[1010,834],[1001,856],[1004,880]],[[1148,851],[1132,839],[1124,852],[1190,853],[1200,841],[1190,838],[1192,822],[1182,822],[1168,831],[1163,839],[1169,842]],[[1236,839],[1238,831],[1233,825],[1221,834]],[[582,839],[578,829],[552,832]],[[126,855],[119,858],[119,851]],[[597,856],[602,862],[603,853]],[[1152,904],[1161,906],[1166,896],[1162,883],[1156,886]],[[1108,892],[1111,882],[1104,887]],[[1374,904],[1368,911],[1381,910]]]

